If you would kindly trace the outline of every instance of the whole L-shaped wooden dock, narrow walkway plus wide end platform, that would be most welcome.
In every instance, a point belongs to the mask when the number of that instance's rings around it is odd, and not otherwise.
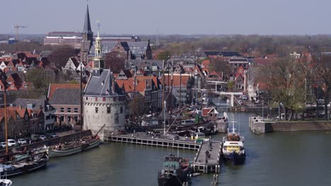
[[[150,136],[146,133],[134,133],[127,135],[108,135],[105,141],[130,144],[141,144],[155,147],[170,147],[175,149],[190,149],[197,151],[192,163],[194,172],[219,173],[221,163],[222,143],[218,141],[197,142],[186,137]]]

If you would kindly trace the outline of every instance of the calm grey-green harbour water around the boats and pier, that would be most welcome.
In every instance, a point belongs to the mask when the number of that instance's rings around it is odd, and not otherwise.
[[[254,135],[248,113],[236,120],[245,136],[245,164],[221,164],[219,185],[331,185],[330,132],[274,132]],[[221,140],[223,134],[214,136]],[[158,169],[169,153],[194,158],[195,151],[105,143],[91,151],[51,159],[47,168],[12,178],[13,185],[157,185]],[[192,185],[210,185],[212,174],[192,179]]]

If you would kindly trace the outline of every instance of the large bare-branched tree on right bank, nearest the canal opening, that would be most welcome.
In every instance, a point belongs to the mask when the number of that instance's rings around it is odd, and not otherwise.
[[[286,120],[291,120],[294,113],[305,109],[305,77],[300,61],[289,56],[260,70],[260,80],[269,87],[272,100],[283,104]],[[291,111],[289,118],[288,111]]]

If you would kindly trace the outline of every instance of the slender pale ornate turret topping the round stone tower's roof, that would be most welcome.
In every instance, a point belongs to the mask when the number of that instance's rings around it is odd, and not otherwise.
[[[95,39],[95,56],[93,57],[93,75],[100,76],[105,68],[105,59],[103,58],[103,45],[101,44],[100,32]]]

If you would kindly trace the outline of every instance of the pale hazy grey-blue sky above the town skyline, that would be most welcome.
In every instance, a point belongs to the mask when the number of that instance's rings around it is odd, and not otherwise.
[[[89,0],[91,26],[107,34],[331,33],[330,0]],[[83,29],[86,0],[1,0],[0,33]]]

